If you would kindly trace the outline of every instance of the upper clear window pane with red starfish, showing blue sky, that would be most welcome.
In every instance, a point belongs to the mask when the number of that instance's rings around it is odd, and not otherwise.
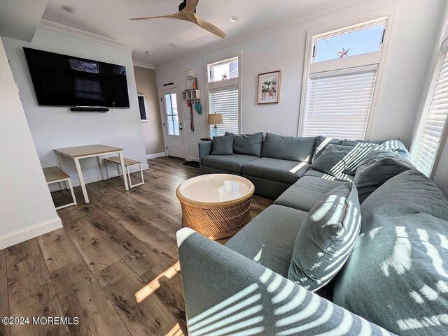
[[[381,23],[348,33],[318,38],[313,62],[376,52],[381,45],[383,31],[384,23]]]

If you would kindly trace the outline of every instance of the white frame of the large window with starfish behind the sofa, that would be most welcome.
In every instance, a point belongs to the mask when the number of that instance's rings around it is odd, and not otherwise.
[[[319,73],[325,71],[339,70],[344,68],[353,68],[363,66],[366,64],[378,64],[377,78],[375,80],[374,90],[372,94],[372,101],[370,103],[370,112],[365,126],[365,133],[363,139],[370,138],[372,130],[372,120],[377,108],[379,87],[381,87],[382,74],[384,72],[384,64],[388,56],[388,44],[390,42],[391,31],[393,30],[393,18],[395,14],[395,6],[387,10],[379,10],[370,15],[363,15],[352,20],[344,20],[335,24],[330,24],[325,27],[307,31],[307,40],[305,46],[304,66],[302,75],[302,89],[300,92],[300,109],[299,109],[299,123],[297,127],[297,136],[302,136],[304,133],[304,125],[308,105],[308,92],[310,85],[311,73]],[[349,31],[363,29],[379,22],[384,22],[384,36],[381,47],[377,52],[367,52],[365,54],[354,55],[344,59],[332,59],[328,61],[313,62],[314,45],[317,39],[324,36],[335,36],[344,34]]]

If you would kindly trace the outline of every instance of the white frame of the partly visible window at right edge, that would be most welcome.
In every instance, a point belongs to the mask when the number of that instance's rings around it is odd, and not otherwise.
[[[431,106],[433,105],[433,98],[434,98],[435,91],[437,89],[437,83],[439,81],[439,77],[440,77],[440,73],[442,71],[442,66],[443,66],[445,57],[448,57],[448,38],[446,38],[440,45],[439,52],[437,54],[437,61],[435,63],[435,66],[433,67],[433,73],[430,76],[430,84],[428,86],[428,90],[427,90],[426,96],[424,98],[424,103],[423,103],[422,108],[420,109],[419,118],[417,119],[417,122],[414,126],[414,133],[412,133],[412,143],[411,143],[410,150],[409,150],[409,152],[411,154],[411,158],[412,158],[412,152],[414,152],[415,147],[417,145],[419,145],[418,141],[416,141],[416,140],[418,140],[418,138],[419,138],[421,122],[423,121],[424,117],[426,117],[426,115],[430,111]],[[430,168],[428,177],[431,180],[433,180],[433,178],[434,178],[435,170],[436,170],[435,168],[437,168],[437,165],[440,161],[440,156],[442,156],[442,149],[444,148],[444,144],[446,143],[447,138],[448,138],[448,117],[445,120],[443,129],[441,132],[439,144],[437,145],[437,149],[435,151],[433,164]]]

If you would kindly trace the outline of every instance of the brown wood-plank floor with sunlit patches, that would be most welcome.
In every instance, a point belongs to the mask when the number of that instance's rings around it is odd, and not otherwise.
[[[87,184],[88,205],[76,187],[80,204],[58,211],[64,228],[0,250],[0,317],[79,319],[69,326],[0,324],[0,336],[187,335],[175,191],[199,169],[168,157],[148,163],[143,186],[125,192],[121,177]],[[56,205],[70,200],[68,191],[52,196]],[[254,196],[252,217],[271,204]]]

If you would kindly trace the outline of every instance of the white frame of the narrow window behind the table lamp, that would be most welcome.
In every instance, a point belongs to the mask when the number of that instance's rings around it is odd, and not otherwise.
[[[228,80],[218,80],[216,82],[209,82],[209,66],[213,64],[218,64],[223,61],[238,58],[238,78],[230,78]],[[242,109],[241,109],[241,103],[242,103],[242,94],[241,94],[241,87],[242,87],[242,60],[243,60],[243,53],[241,51],[236,52],[234,54],[228,54],[227,56],[223,57],[214,57],[214,59],[209,59],[204,61],[204,82],[205,82],[205,94],[204,94],[204,105],[206,106],[206,115],[209,116],[210,110],[209,110],[209,92],[210,89],[219,89],[226,87],[234,87],[238,86],[238,133],[242,133]],[[204,108],[203,105],[203,108]],[[211,137],[211,131],[209,125],[207,125],[207,135]]]

